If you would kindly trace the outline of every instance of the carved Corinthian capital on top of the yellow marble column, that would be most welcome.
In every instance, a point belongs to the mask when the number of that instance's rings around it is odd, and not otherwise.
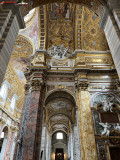
[[[78,81],[75,83],[75,87],[76,87],[77,89],[82,90],[82,91],[88,90],[88,85],[89,85],[89,82],[88,82],[88,81],[79,81],[79,80],[78,80]]]

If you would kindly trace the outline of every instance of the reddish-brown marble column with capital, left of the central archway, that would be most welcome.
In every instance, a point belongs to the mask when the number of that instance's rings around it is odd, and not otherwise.
[[[43,96],[44,85],[40,79],[31,80],[31,96],[29,111],[23,141],[22,160],[39,160],[42,116],[43,116]]]

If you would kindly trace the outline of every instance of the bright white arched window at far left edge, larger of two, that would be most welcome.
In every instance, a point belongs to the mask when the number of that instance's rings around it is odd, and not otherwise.
[[[7,80],[5,80],[2,84],[2,87],[0,88],[0,100],[2,101],[1,103],[3,105],[5,103],[9,88],[10,88],[10,84],[8,83]]]

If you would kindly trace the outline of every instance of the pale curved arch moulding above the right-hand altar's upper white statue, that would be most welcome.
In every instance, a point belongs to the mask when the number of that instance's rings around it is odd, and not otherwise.
[[[97,96],[103,95],[103,94],[114,96],[118,100],[118,102],[120,103],[120,98],[117,95],[115,95],[114,93],[111,93],[111,92],[97,92],[92,96],[92,98],[90,100],[90,106],[93,107],[93,103],[94,103],[95,98]]]

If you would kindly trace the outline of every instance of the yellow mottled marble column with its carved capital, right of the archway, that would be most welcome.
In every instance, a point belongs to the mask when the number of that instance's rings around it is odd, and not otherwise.
[[[80,127],[81,160],[97,160],[87,81],[77,81],[76,88]]]

